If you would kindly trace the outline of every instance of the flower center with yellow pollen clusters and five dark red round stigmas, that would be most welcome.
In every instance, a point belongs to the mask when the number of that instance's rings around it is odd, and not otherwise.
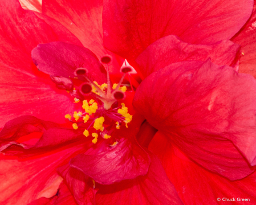
[[[121,86],[121,83],[125,77],[125,74],[132,70],[130,67],[124,67],[121,69],[123,76],[118,84],[114,83],[111,86],[109,80],[108,63],[111,62],[111,58],[104,56],[101,58],[101,63],[107,64],[107,83],[99,85],[96,81],[91,81],[87,77],[86,68],[77,68],[75,71],[76,76],[83,76],[87,80],[79,87],[79,92],[82,93],[84,98],[92,97],[90,101],[83,100],[82,108],[79,111],[75,111],[72,114],[66,114],[65,118],[73,122],[74,129],[84,128],[84,136],[94,137],[92,142],[95,144],[97,138],[100,136],[104,139],[111,138],[111,134],[120,129],[120,126],[125,124],[128,128],[128,123],[132,121],[132,115],[128,113],[128,108],[124,103],[120,103],[120,100],[125,98],[125,92],[127,87]],[[80,99],[74,99],[74,103],[79,103]],[[115,142],[111,146],[115,146],[118,142]]]

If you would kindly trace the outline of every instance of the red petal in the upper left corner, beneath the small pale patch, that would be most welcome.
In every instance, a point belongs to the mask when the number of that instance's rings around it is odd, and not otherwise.
[[[31,70],[31,50],[39,43],[57,40],[78,43],[66,28],[47,18],[52,29],[44,20],[36,17],[32,11],[21,8],[18,1],[1,0],[2,31],[0,32],[1,62],[11,67]],[[42,18],[43,16],[40,15]],[[63,35],[63,34],[67,34]],[[71,38],[70,38],[71,37]],[[28,40],[29,39],[29,40]]]

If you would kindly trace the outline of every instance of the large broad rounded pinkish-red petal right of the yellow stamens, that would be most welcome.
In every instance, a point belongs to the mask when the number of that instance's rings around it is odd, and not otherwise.
[[[255,165],[255,99],[253,77],[208,60],[152,73],[137,89],[133,106],[194,161],[241,179]]]

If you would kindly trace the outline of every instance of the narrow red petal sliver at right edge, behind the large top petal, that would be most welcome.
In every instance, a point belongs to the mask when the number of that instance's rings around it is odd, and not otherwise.
[[[255,2],[255,1],[254,1]],[[253,8],[251,15],[245,26],[231,40],[242,46],[241,59],[239,62],[239,72],[248,73],[256,77],[256,59],[255,59],[255,38],[256,38],[256,5]]]

